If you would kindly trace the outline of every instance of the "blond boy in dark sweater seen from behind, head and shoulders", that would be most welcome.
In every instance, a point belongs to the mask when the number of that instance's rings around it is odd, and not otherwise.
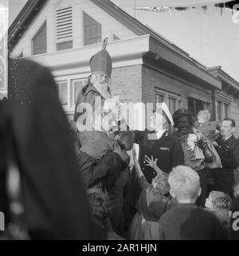
[[[226,239],[217,218],[195,202],[201,193],[199,176],[186,166],[170,172],[170,194],[178,205],[167,211],[159,220],[159,237],[162,240],[216,240]]]

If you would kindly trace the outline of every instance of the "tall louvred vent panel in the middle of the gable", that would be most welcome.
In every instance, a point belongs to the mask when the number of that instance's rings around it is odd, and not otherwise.
[[[57,51],[72,48],[72,6],[57,9]]]

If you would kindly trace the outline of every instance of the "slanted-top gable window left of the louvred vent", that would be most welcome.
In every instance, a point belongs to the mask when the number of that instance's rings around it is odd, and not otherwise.
[[[32,39],[33,55],[46,53],[46,22]]]

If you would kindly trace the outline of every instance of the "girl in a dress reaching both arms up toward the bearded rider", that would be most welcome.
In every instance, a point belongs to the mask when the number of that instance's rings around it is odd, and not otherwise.
[[[173,199],[169,194],[170,186],[167,183],[168,174],[157,167],[157,159],[153,160],[152,156],[151,159],[146,156],[147,165],[158,173],[150,184],[139,166],[135,150],[133,150],[133,158],[142,192],[136,204],[137,213],[132,219],[128,238],[131,240],[158,240],[159,218],[173,206]]]

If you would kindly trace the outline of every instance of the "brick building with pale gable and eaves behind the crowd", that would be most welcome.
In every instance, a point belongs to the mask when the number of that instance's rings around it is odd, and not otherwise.
[[[112,93],[126,102],[165,101],[194,114],[212,106],[214,119],[232,116],[239,135],[239,84],[220,68],[207,69],[182,49],[108,0],[31,0],[9,30],[13,57],[52,69],[65,112],[90,73],[89,58],[108,37]]]

